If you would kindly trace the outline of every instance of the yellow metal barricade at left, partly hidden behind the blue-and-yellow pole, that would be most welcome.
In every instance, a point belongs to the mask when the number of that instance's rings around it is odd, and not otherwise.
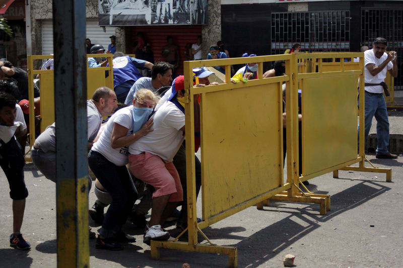
[[[95,90],[100,86],[107,86],[113,88],[113,68],[112,54],[87,54],[87,57],[106,57],[109,63],[108,67],[88,68],[87,65],[87,99],[91,99]],[[28,88],[29,88],[29,103],[34,103],[34,78],[39,74],[39,88],[40,88],[40,131],[43,132],[47,126],[54,122],[54,80],[53,69],[50,70],[35,70],[34,60],[45,60],[53,58],[53,55],[28,55]],[[107,75],[107,77],[105,77]],[[62,100],[59,100],[62,101]],[[56,100],[57,105],[57,100]],[[69,112],[66,111],[66,115]],[[34,106],[29,106],[29,144],[35,142],[35,116]],[[26,161],[31,161],[30,155],[25,156]]]

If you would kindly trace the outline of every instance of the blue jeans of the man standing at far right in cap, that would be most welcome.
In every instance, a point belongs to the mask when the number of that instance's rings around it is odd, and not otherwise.
[[[388,153],[389,146],[389,120],[387,118],[387,109],[383,94],[370,94],[365,92],[365,137],[367,139],[369,130],[372,125],[372,118],[376,119],[376,136],[378,139],[378,146],[376,154]],[[358,126],[358,133],[360,126]]]

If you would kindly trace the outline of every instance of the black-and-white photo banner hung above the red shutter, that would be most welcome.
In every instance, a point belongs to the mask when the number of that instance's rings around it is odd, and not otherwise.
[[[207,5],[208,0],[98,0],[98,24],[207,24]]]

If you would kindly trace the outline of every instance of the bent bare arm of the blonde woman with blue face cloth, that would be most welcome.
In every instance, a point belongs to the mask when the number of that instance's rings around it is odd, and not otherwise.
[[[153,118],[151,118],[149,121],[147,121],[139,131],[126,136],[128,129],[123,127],[122,125],[119,125],[118,123],[114,123],[113,125],[113,130],[112,130],[112,135],[110,137],[110,145],[112,146],[113,149],[115,148],[121,148],[124,146],[127,146],[141,137],[147,135],[151,131],[154,131],[154,129],[151,129],[151,127],[154,125]]]

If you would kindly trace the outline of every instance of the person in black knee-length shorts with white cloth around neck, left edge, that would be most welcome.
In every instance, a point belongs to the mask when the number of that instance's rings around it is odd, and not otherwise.
[[[20,233],[28,190],[24,181],[24,155],[14,136],[23,136],[26,132],[27,126],[17,100],[8,93],[0,93],[0,166],[6,174],[13,200],[10,246],[23,250],[31,248]]]

